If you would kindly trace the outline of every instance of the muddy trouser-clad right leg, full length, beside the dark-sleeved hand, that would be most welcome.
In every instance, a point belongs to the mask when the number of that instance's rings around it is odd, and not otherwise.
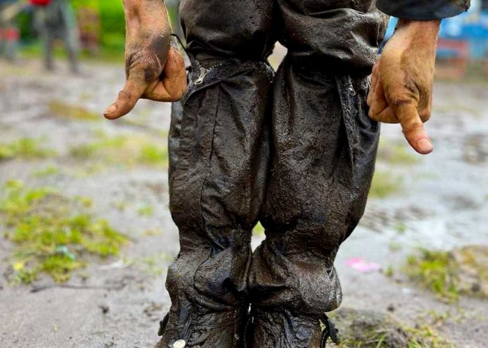
[[[366,97],[385,19],[371,0],[277,2],[289,51],[273,86],[266,240],[250,270],[253,347],[318,348],[342,301],[335,256],[374,171]]]

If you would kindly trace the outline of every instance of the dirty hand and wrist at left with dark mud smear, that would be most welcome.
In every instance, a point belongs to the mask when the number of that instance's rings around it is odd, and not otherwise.
[[[127,81],[105,118],[129,113],[144,98],[176,102],[186,90],[183,57],[170,47],[167,12],[162,1],[125,0],[125,75]]]

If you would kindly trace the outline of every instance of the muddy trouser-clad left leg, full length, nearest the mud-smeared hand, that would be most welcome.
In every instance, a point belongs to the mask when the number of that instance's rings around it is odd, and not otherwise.
[[[231,348],[243,339],[251,231],[268,173],[271,7],[267,0],[182,6],[192,72],[171,116],[170,209],[181,251],[167,275],[161,348],[177,340]]]

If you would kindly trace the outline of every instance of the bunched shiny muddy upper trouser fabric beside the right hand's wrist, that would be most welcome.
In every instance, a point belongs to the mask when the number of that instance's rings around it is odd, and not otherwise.
[[[312,69],[369,74],[388,16],[372,0],[277,0],[288,56]]]

